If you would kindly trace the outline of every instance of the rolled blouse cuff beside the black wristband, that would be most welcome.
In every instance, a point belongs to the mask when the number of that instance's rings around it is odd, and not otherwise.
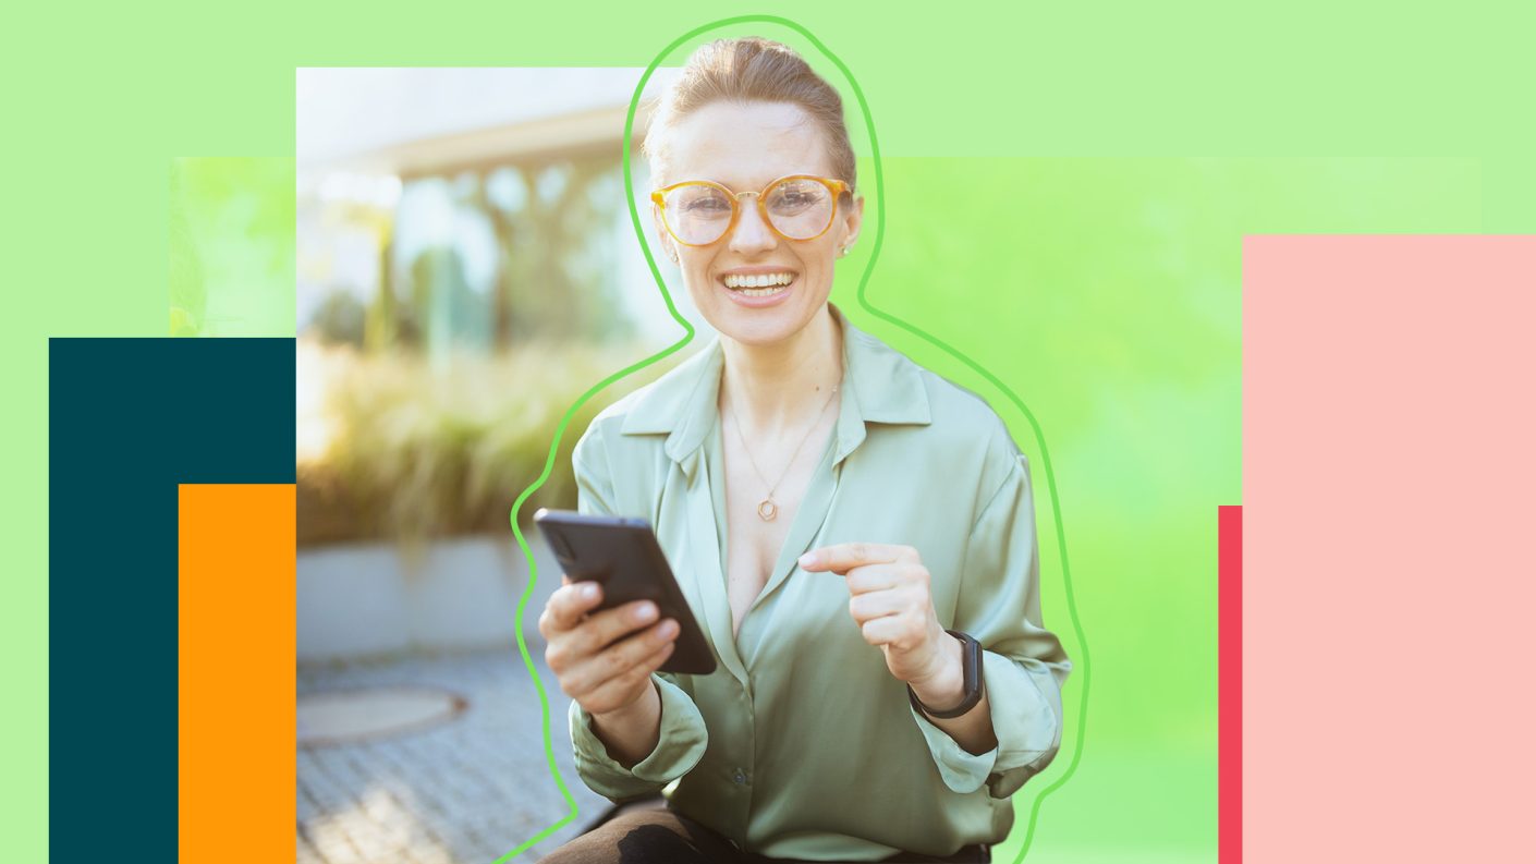
[[[1041,667],[1038,675],[1055,693],[1051,672]],[[1057,723],[1061,709],[1052,707],[1035,675],[997,652],[982,652],[982,680],[997,738],[997,746],[985,753],[965,750],[917,706],[908,704],[908,710],[928,741],[945,786],[962,795],[986,786],[992,798],[1008,798],[1055,755],[1061,741]],[[1055,704],[1060,704],[1060,695]]]

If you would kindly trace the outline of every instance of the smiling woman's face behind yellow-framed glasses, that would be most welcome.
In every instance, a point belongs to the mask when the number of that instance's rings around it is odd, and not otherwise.
[[[733,192],[759,192],[790,174],[831,180],[825,135],[796,105],[717,101],[680,118],[667,140],[667,183],[713,180]],[[660,243],[682,268],[694,306],[710,324],[745,344],[774,344],[800,332],[826,304],[837,252],[859,235],[863,198],[837,203],[833,226],[814,240],[786,240],[742,198],[736,226],[708,246],[676,243],[660,224]],[[653,208],[654,211],[654,208]],[[783,274],[790,283],[774,294],[731,287],[739,277]]]

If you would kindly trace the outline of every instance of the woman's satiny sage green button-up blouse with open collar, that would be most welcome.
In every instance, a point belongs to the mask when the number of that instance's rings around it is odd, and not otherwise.
[[[608,406],[574,450],[584,513],[651,523],[719,667],[656,673],[660,743],[616,763],[570,709],[582,781],[610,799],[668,787],[674,810],[774,858],[874,861],[1001,842],[1009,796],[1061,744],[1072,664],[1040,616],[1029,463],[977,395],[843,327],[837,424],[762,593],[733,638],[725,578],[719,340]],[[997,747],[972,755],[908,701],[863,641],[833,543],[912,546],[948,629],[982,643]]]

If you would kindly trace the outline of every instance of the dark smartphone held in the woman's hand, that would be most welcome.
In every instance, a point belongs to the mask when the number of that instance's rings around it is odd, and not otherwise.
[[[714,672],[714,652],[693,616],[693,609],[677,587],[656,533],[645,520],[588,517],[571,510],[541,507],[533,523],[571,581],[602,583],[602,604],[613,609],[636,600],[650,600],[660,616],[677,621],[677,640],[660,672],[708,675]],[[654,624],[651,624],[654,626]],[[627,633],[628,638],[633,633]],[[604,646],[608,647],[608,646]]]

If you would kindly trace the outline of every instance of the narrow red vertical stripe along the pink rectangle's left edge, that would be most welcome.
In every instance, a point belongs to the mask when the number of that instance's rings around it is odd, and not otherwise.
[[[1243,861],[1243,507],[1217,507],[1217,836],[1221,864]]]

